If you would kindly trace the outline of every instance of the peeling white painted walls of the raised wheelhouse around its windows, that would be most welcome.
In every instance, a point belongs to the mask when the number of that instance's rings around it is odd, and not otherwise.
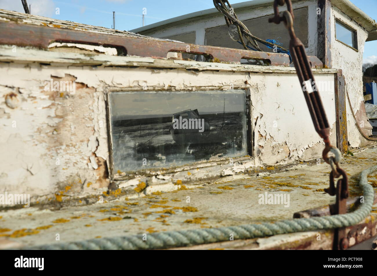
[[[337,3],[339,5],[339,3]],[[242,8],[236,11],[237,16],[240,20],[248,20],[252,18],[262,17],[265,15],[272,14],[273,6],[272,3],[266,3],[265,6],[253,7],[250,4],[249,8]],[[293,9],[308,7],[308,47],[306,48],[308,55],[317,55],[317,0],[308,0],[300,1],[293,3]],[[280,7],[279,11],[286,10],[286,6]],[[331,6],[327,11],[326,21],[329,21],[330,30],[327,32],[326,37],[328,40],[328,59],[331,68],[337,68],[343,70],[343,75],[345,75],[347,89],[349,96],[351,98],[352,108],[354,113],[358,117],[359,125],[362,125],[362,129],[366,135],[371,134],[371,125],[369,124],[365,109],[363,108],[363,81],[362,81],[362,59],[364,53],[364,44],[365,40],[368,37],[368,31],[360,26],[359,23],[352,20],[344,12],[340,11],[336,6]],[[345,46],[340,43],[335,38],[335,19],[340,19],[344,23],[348,24],[355,30],[357,30],[357,44],[359,51],[351,49],[350,47]],[[207,16],[199,18],[198,20],[193,20],[190,23],[184,24],[172,24],[170,26],[162,26],[160,29],[152,29],[151,31],[146,30],[143,34],[151,35],[153,37],[163,38],[173,35],[184,34],[187,32],[197,32],[196,44],[206,44],[205,38],[202,33],[205,32],[205,29],[224,25],[224,17],[221,13],[216,14],[215,16]],[[268,24],[268,23],[267,23]],[[252,30],[251,30],[252,31]],[[201,34],[201,35],[198,35]],[[225,34],[227,35],[227,34]],[[288,35],[287,33],[282,34],[282,36]],[[348,127],[348,138],[349,145],[352,148],[357,148],[360,146],[370,144],[370,141],[365,140],[357,130],[355,126],[356,120],[352,116],[351,109],[349,107],[348,101],[347,105],[347,127]],[[364,126],[364,127],[363,127]]]

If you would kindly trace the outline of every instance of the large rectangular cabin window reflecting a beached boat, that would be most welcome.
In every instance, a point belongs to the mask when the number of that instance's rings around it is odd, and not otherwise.
[[[244,90],[109,93],[115,174],[247,155]]]

